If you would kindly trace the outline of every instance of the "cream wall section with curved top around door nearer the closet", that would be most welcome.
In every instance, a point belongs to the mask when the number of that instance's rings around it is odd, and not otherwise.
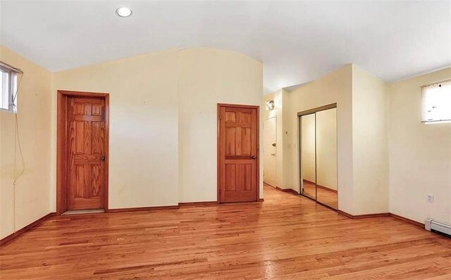
[[[259,106],[263,66],[241,53],[216,49],[188,49],[180,51],[180,58],[179,201],[216,201],[217,103]],[[263,155],[263,122],[259,120]],[[260,161],[263,198],[262,156]]]

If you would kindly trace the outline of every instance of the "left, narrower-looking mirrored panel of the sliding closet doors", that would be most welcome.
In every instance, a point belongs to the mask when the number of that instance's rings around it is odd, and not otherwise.
[[[300,125],[302,194],[316,199],[315,114],[303,115]]]

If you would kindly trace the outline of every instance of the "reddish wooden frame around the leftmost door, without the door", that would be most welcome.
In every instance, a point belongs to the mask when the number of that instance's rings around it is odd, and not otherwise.
[[[70,97],[94,97],[103,98],[105,101],[105,178],[104,178],[104,210],[108,212],[108,170],[109,170],[109,94],[87,91],[58,90],[58,115],[56,135],[56,215],[61,215],[67,210],[67,113],[68,98]]]

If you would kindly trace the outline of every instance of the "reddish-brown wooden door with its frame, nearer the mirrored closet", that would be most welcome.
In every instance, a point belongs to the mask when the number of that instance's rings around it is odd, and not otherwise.
[[[259,108],[218,105],[218,202],[259,200]]]

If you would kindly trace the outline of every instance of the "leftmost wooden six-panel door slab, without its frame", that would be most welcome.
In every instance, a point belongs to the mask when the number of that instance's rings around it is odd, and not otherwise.
[[[70,96],[67,112],[67,210],[103,209],[105,99]]]

